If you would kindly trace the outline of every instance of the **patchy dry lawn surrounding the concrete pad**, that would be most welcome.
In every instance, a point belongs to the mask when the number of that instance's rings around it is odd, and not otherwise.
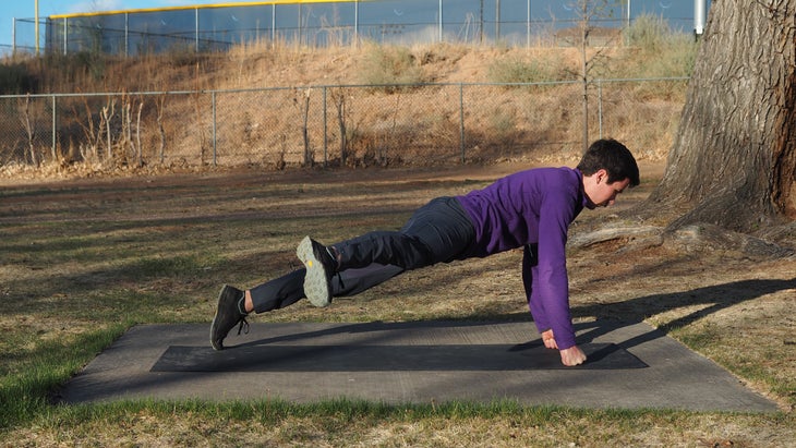
[[[296,404],[263,398],[53,403],[58,388],[130,326],[208,323],[220,283],[254,286],[291,269],[291,251],[302,234],[331,241],[397,228],[427,198],[472,190],[511,169],[236,172],[5,187],[0,192],[0,445],[756,447],[793,439],[793,412],[784,411],[796,404],[792,347],[763,343],[787,340],[792,331],[788,291],[771,288],[750,292],[753,300],[729,301],[721,299],[729,289],[717,288],[716,298],[705,294],[704,304],[678,292],[697,291],[705,282],[709,289],[715,282],[733,284],[740,275],[791,278],[793,262],[750,268],[745,259],[696,259],[655,249],[607,263],[616,247],[600,245],[572,253],[578,318],[592,312],[601,317],[600,310],[652,316],[779,400],[783,412],[587,410],[511,401]],[[628,193],[628,199],[642,198],[643,189]],[[518,259],[507,253],[409,273],[328,310],[299,303],[254,318],[527,318]],[[709,269],[711,278],[695,266]],[[650,291],[670,293],[649,296]]]

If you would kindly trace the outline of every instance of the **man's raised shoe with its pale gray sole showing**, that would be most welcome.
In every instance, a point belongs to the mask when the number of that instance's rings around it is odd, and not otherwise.
[[[328,306],[331,303],[329,280],[335,274],[337,262],[329,251],[318,242],[304,237],[296,249],[296,255],[306,267],[304,276],[304,294],[315,306]]]

